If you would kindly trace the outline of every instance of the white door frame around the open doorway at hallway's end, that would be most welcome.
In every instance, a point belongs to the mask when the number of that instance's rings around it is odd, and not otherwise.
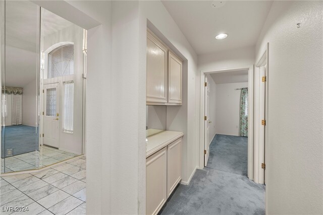
[[[200,70],[200,149],[199,169],[204,168],[204,80],[205,74],[248,69],[248,178],[253,180],[253,74],[254,65]],[[251,113],[251,114],[250,114]]]

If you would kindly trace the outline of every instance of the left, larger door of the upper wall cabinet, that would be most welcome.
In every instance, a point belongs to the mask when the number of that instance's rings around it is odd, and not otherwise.
[[[147,31],[147,103],[167,103],[167,48]]]

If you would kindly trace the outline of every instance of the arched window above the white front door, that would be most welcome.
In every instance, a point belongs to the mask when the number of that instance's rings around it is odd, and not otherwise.
[[[74,74],[74,45],[62,45],[48,53],[48,79]]]

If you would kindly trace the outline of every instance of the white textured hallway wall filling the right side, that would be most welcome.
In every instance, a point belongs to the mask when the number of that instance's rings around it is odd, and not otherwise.
[[[323,213],[322,4],[275,1],[255,48],[269,42],[267,214]]]

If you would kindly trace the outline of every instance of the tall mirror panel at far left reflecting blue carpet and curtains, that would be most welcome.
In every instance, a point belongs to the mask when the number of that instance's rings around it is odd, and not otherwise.
[[[1,171],[12,172],[39,166],[37,6],[27,1],[7,1],[5,10]]]

